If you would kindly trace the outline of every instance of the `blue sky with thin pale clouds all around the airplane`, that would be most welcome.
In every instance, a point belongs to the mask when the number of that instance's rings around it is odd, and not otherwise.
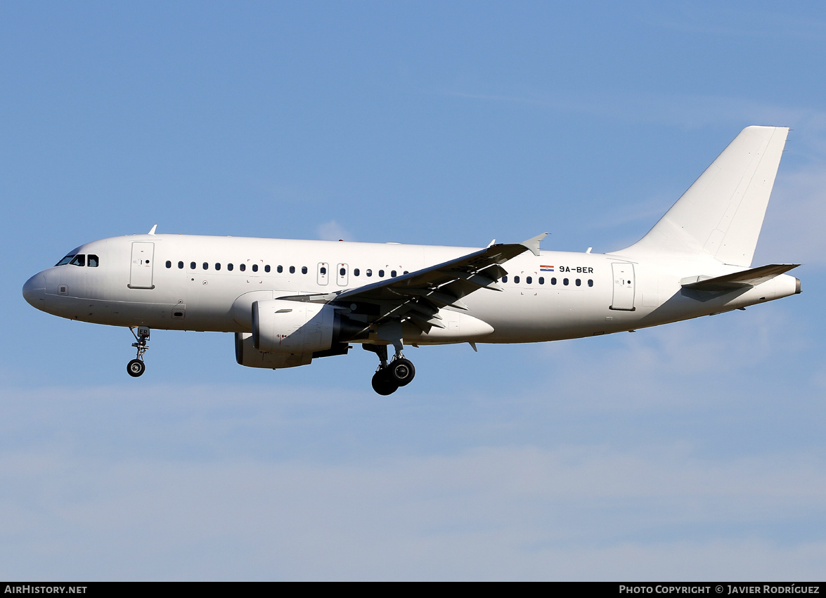
[[[814,2],[2,2],[0,576],[813,579],[826,567]],[[800,296],[634,334],[278,372],[33,310],[145,232],[637,240],[791,126],[755,264]]]

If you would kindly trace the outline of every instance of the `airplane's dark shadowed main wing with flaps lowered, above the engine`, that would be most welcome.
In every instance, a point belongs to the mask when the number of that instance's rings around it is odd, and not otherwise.
[[[546,235],[548,233],[537,235],[523,243],[491,244],[461,258],[363,287],[319,295],[279,298],[341,306],[349,309],[354,316],[364,316],[364,320],[369,323],[396,318],[409,320],[426,333],[433,326],[444,328],[438,313],[442,307],[467,310],[468,306],[463,303],[462,297],[481,288],[501,291],[496,281],[507,274],[501,264],[525,251],[539,255],[539,241]]]

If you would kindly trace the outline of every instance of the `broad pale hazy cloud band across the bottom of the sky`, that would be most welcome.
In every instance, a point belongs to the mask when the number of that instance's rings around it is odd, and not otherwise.
[[[788,579],[816,577],[826,548],[762,538],[823,515],[826,467],[805,455],[714,462],[596,445],[319,465],[17,453],[0,470],[7,490],[17,477],[2,497],[0,572],[17,578]]]

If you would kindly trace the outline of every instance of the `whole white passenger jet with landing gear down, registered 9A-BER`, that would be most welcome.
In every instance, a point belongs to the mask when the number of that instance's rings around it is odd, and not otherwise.
[[[250,368],[377,354],[373,390],[415,367],[405,345],[539,343],[637,330],[800,293],[752,268],[787,127],[748,126],[637,243],[606,254],[543,251],[545,234],[482,249],[345,241],[128,235],[72,249],[23,286],[41,311],[129,327],[145,371],[150,330],[235,335]],[[392,357],[388,358],[388,347]]]

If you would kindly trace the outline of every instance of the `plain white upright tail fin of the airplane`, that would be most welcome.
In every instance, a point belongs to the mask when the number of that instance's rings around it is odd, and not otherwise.
[[[748,126],[637,243],[617,254],[708,254],[750,266],[789,129]]]

